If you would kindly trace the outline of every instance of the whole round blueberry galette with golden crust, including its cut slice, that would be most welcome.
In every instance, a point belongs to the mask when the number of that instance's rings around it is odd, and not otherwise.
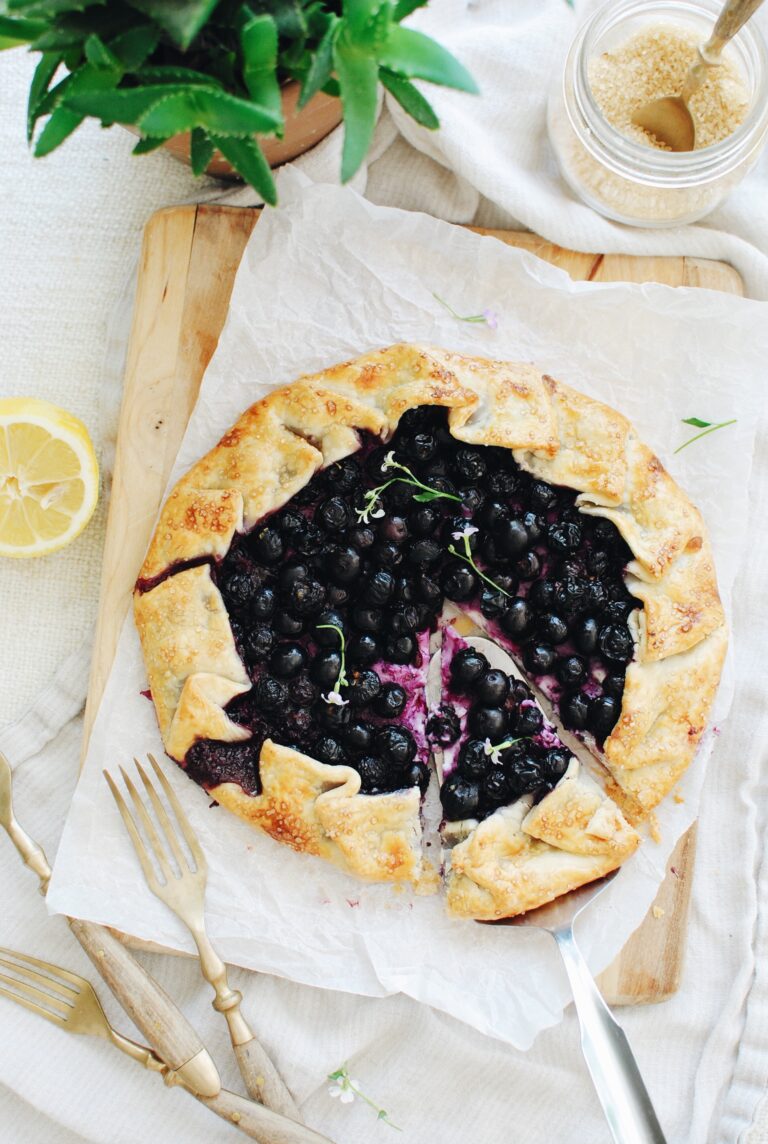
[[[625,418],[530,365],[417,345],[247,410],[166,501],[135,617],[168,755],[295,850],[434,888],[440,750],[449,907],[476,917],[633,852],[727,643],[700,515]]]

